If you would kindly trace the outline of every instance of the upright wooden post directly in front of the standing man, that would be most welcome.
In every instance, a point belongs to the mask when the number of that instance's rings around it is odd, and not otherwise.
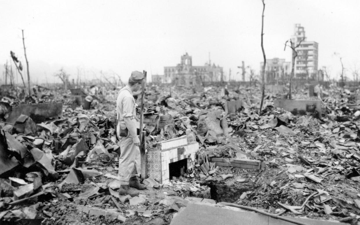
[[[145,86],[146,86],[146,75],[147,72],[144,70],[144,79],[145,82],[141,87],[141,107],[140,107],[140,157],[141,157],[141,180],[146,179],[146,139],[143,134],[143,122],[144,122],[144,95],[145,95]],[[139,172],[139,171],[137,171]]]

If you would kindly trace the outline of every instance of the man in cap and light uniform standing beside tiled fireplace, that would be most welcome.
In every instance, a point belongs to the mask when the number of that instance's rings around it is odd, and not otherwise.
[[[145,189],[144,184],[140,184],[137,173],[140,173],[140,140],[136,133],[136,106],[133,92],[138,91],[145,82],[143,73],[139,71],[131,72],[128,84],[123,87],[116,100],[117,129],[116,133],[120,140],[119,158],[119,180],[121,195],[136,196],[138,190]]]

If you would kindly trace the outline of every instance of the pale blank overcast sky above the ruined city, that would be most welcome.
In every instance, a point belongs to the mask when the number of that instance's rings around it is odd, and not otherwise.
[[[308,41],[319,43],[319,69],[327,66],[339,77],[343,58],[352,79],[360,68],[359,0],[265,0],[266,58],[291,60],[284,43],[294,24],[305,27]],[[163,74],[186,52],[194,66],[211,62],[232,75],[244,60],[259,73],[262,51],[261,0],[229,1],[5,1],[0,0],[1,80],[10,50],[25,63],[24,30],[32,81],[59,82],[63,67],[72,78],[77,68],[86,78],[108,78],[113,72],[127,80],[131,71]],[[18,78],[20,82],[20,77]],[[84,79],[84,78],[83,78]],[[3,82],[2,82],[3,83]]]

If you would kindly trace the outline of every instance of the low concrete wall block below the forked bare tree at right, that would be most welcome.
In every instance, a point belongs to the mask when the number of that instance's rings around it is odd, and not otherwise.
[[[295,116],[312,114],[321,118],[320,100],[275,99],[274,107],[283,108]]]

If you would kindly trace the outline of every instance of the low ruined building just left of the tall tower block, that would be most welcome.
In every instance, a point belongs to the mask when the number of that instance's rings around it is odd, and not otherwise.
[[[264,62],[260,63],[260,71]],[[285,59],[273,58],[266,59],[265,66],[265,84],[273,84],[279,80],[284,81],[289,79],[291,74],[291,62],[285,62]]]

